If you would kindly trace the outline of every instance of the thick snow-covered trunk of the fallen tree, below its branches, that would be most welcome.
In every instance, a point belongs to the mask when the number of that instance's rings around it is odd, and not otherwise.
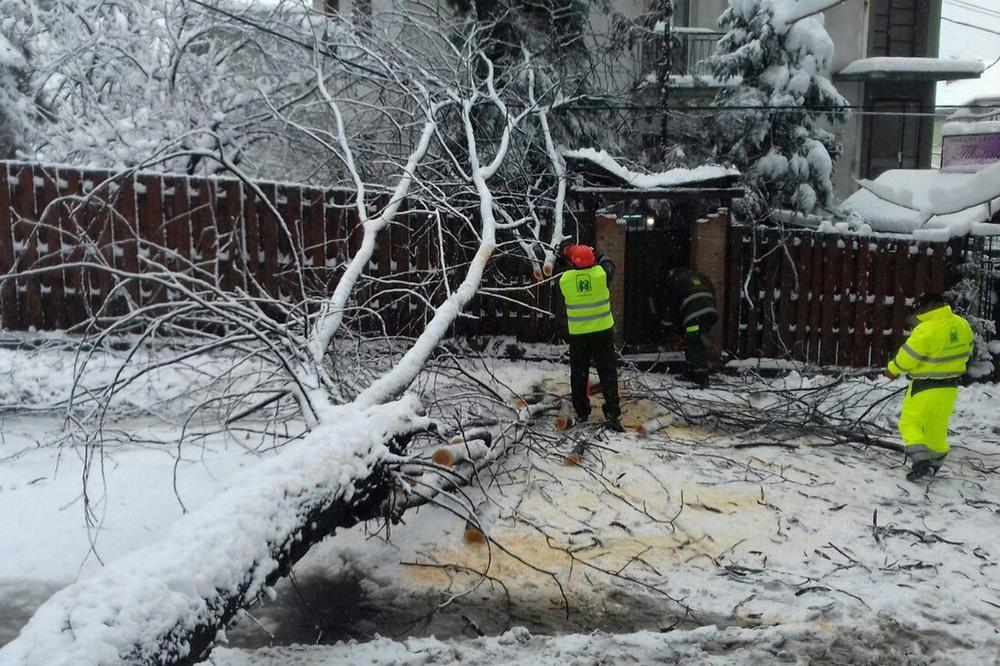
[[[305,516],[351,500],[355,483],[389,454],[387,438],[426,424],[417,408],[407,399],[330,415],[327,425],[239,474],[158,542],[55,594],[0,650],[0,664],[96,666],[185,656],[189,646],[177,634],[214,624],[226,597],[266,593],[276,557]]]

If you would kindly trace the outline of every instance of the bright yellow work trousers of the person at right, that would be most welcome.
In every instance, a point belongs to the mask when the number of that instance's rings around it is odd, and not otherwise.
[[[899,433],[906,445],[906,457],[914,462],[929,460],[938,467],[948,455],[948,420],[955,411],[958,389],[954,386],[929,388],[913,394],[913,382],[906,389]]]

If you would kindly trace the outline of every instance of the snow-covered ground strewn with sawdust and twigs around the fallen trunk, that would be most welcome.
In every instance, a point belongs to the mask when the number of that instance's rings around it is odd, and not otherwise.
[[[17,365],[0,359],[15,385],[30,386]],[[565,374],[540,363],[495,371],[519,387]],[[644,381],[733,405],[734,391],[747,391],[734,379],[690,393],[668,378]],[[637,386],[633,378],[627,388]],[[18,400],[30,400],[30,388]],[[753,438],[680,422],[655,434],[602,433],[581,466],[567,467],[570,442],[543,428],[530,452],[483,479],[488,494],[462,500],[491,546],[468,540],[466,519],[438,507],[407,514],[388,539],[363,528],[338,535],[229,633],[212,662],[997,663],[998,400],[996,387],[963,391],[953,421],[960,446],[921,486],[903,480],[890,451],[744,446]],[[633,400],[625,420],[658,414]],[[153,443],[176,433],[169,415],[131,414],[116,428],[133,443],[109,447],[103,477],[89,480],[97,530],[84,520],[81,456],[49,445],[60,425],[38,414],[3,423],[0,644],[48,594],[98,570],[98,557],[155,538],[181,515],[178,496],[199,506],[269,455],[214,435],[178,460]]]

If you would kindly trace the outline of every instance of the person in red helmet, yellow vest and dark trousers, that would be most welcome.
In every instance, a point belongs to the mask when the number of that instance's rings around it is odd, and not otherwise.
[[[615,272],[614,262],[595,255],[587,245],[568,245],[563,256],[571,264],[559,277],[559,291],[566,302],[573,409],[580,422],[590,418],[587,385],[593,361],[604,394],[604,418],[611,429],[622,432],[615,367],[615,320],[608,290]]]

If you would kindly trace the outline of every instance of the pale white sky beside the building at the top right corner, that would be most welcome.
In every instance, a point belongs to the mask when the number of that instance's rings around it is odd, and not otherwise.
[[[983,28],[977,30],[942,20],[942,58],[977,58],[987,66],[1000,58],[1000,34],[985,32],[1000,33],[1000,1],[944,0],[941,16]],[[1000,97],[1000,63],[990,67],[980,79],[939,83],[937,103],[964,104],[974,97],[987,95]]]

